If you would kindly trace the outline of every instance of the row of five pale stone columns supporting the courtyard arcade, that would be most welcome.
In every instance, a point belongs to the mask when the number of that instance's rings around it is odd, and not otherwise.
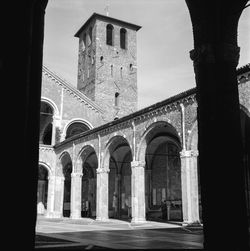
[[[182,150],[181,185],[183,224],[200,222],[197,175],[197,151]],[[73,169],[74,170],[74,169]],[[145,161],[131,161],[131,222],[146,221]],[[63,217],[64,177],[48,177],[46,217]],[[109,168],[96,169],[96,220],[109,220]],[[70,218],[81,218],[82,173],[71,173]]]

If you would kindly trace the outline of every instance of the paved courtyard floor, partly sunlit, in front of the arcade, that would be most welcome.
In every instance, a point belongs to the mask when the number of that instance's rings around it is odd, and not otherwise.
[[[202,249],[201,228],[149,221],[38,218],[36,249]]]

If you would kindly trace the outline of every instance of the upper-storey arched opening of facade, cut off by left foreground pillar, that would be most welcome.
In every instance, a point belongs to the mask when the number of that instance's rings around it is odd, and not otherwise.
[[[53,115],[54,110],[52,106],[42,101],[40,107],[40,144],[52,144]]]

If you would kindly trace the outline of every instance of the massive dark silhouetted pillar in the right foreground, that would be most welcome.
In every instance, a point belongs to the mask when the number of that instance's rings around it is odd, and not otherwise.
[[[236,76],[238,23],[247,2],[186,0],[194,38],[190,57],[197,87],[204,249],[209,250],[250,248]]]

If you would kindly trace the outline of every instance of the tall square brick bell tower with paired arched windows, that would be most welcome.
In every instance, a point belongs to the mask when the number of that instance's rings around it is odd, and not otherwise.
[[[137,111],[136,32],[141,26],[94,13],[77,31],[77,89],[112,121]]]

